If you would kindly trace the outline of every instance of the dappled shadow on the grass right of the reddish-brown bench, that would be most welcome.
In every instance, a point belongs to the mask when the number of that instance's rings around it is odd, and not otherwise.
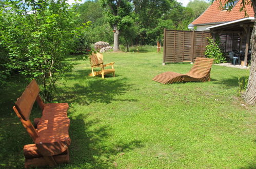
[[[132,140],[128,143],[121,141],[107,145],[107,139],[111,137],[110,126],[102,125],[99,119],[88,121],[87,116],[80,114],[70,118],[71,166],[112,168],[114,159],[111,156],[143,146],[140,140]]]

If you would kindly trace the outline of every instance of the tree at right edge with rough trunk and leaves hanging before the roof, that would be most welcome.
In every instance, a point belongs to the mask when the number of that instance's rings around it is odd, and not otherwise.
[[[234,6],[234,0],[225,0],[224,5],[221,0],[217,0],[220,2],[220,8],[223,6],[229,6],[229,10],[231,10]],[[247,14],[245,5],[250,4],[254,10],[254,18],[256,18],[256,0],[242,0],[240,4],[240,11],[244,11],[245,15]],[[251,67],[250,67],[250,75],[248,78],[248,86],[246,88],[246,92],[242,96],[248,104],[255,104],[256,102],[256,20],[254,22],[254,27],[251,33]]]

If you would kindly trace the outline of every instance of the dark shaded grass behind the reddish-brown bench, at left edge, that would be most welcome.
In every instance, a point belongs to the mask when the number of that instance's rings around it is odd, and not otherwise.
[[[0,168],[23,168],[23,146],[33,143],[12,109],[28,83],[24,78],[15,76],[0,92]],[[35,106],[30,119],[33,120],[39,115],[38,107]]]

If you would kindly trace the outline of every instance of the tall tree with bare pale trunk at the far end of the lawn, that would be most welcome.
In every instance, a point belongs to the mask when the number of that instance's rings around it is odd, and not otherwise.
[[[129,14],[131,5],[127,0],[101,0],[104,8],[108,8],[106,16],[114,32],[114,51],[119,51],[120,31],[129,24],[132,19]]]

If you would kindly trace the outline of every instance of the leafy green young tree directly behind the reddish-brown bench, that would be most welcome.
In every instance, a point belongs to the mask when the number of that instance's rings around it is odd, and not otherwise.
[[[57,81],[72,65],[66,55],[86,24],[76,27],[78,15],[65,1],[4,1],[0,9],[0,42],[9,51],[8,68],[42,85],[42,96],[53,99]],[[30,10],[30,11],[29,11]]]

